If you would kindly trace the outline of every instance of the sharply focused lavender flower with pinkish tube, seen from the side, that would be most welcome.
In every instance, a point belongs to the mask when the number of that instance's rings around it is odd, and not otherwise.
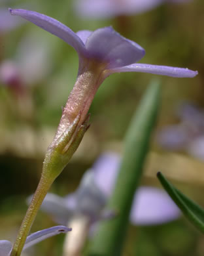
[[[87,113],[99,85],[110,74],[118,72],[144,72],[171,77],[194,77],[197,72],[188,68],[135,64],[143,58],[144,49],[137,43],[122,37],[111,27],[99,28],[94,32],[83,30],[74,33],[58,20],[44,14],[23,9],[9,9],[12,15],[25,20],[58,36],[71,45],[79,57],[78,77],[75,87],[67,100],[58,126],[56,137],[50,147],[77,120],[80,127],[87,118]],[[65,150],[67,147],[65,146]]]

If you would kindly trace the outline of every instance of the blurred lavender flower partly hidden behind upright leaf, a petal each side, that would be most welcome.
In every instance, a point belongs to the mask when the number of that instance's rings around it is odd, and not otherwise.
[[[107,152],[94,163],[94,181],[109,198],[120,167],[120,156]],[[135,192],[130,221],[137,225],[161,224],[177,219],[180,210],[166,192],[159,188],[141,186]]]

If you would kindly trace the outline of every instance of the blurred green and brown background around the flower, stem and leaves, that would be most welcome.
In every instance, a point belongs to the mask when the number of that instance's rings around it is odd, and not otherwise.
[[[73,192],[102,152],[122,152],[131,116],[147,85],[158,78],[163,89],[160,116],[141,184],[160,186],[156,172],[163,171],[204,206],[203,0],[0,0],[0,239],[15,238],[27,208],[25,199],[35,191],[46,148],[78,71],[74,49],[10,16],[8,7],[52,16],[74,32],[111,25],[146,50],[142,63],[199,72],[193,79],[141,73],[106,79],[90,108],[92,125],[52,192],[60,196]],[[53,224],[41,212],[32,231]],[[61,236],[50,238],[33,253],[60,255],[62,241]],[[204,236],[181,217],[163,225],[130,226],[124,255],[199,256],[203,244]]]

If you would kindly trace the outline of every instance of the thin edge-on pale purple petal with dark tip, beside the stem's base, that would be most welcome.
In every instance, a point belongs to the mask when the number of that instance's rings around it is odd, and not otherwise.
[[[32,245],[37,244],[46,238],[50,238],[61,233],[67,233],[68,231],[71,231],[71,228],[67,228],[67,226],[52,226],[52,228],[46,228],[41,231],[37,231],[27,236],[24,249],[27,249],[28,247],[31,247]]]

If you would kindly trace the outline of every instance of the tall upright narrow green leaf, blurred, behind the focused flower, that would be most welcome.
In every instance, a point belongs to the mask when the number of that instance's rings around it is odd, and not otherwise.
[[[118,217],[100,224],[97,236],[93,238],[88,251],[89,256],[118,256],[122,253],[131,203],[142,175],[159,102],[160,84],[154,82],[147,89],[127,130],[124,157],[114,192],[107,205],[109,209],[118,212]]]

